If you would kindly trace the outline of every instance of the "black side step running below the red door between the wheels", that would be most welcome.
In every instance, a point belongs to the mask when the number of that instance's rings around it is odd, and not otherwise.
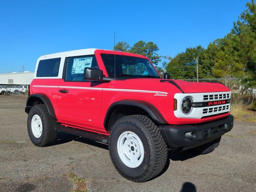
[[[94,132],[88,132],[85,130],[76,129],[76,128],[72,128],[72,127],[66,127],[66,126],[62,126],[62,125],[55,127],[55,130],[64,132],[64,133],[68,133],[68,134],[72,134],[72,135],[76,135],[76,136],[80,136],[80,137],[83,137],[86,139],[102,142],[102,143],[108,143],[107,135],[102,135],[102,134],[98,134],[98,133],[94,133]]]

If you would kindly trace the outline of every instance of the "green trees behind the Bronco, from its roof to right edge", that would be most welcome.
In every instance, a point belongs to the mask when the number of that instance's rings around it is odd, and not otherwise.
[[[248,2],[230,33],[207,48],[189,47],[172,58],[158,55],[154,42],[140,40],[133,46],[118,42],[114,50],[144,55],[160,74],[168,72],[172,79],[196,78],[197,59],[198,78],[241,78],[246,87],[256,88],[256,4]],[[158,66],[162,60],[162,67]]]

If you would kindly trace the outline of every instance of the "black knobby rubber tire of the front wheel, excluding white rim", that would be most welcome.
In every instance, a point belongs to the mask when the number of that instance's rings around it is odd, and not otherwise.
[[[119,136],[124,132],[134,132],[144,148],[142,163],[130,168],[118,155]],[[133,182],[145,182],[160,174],[167,161],[167,145],[159,128],[143,115],[130,115],[117,120],[110,129],[109,154],[116,170],[126,179]]]

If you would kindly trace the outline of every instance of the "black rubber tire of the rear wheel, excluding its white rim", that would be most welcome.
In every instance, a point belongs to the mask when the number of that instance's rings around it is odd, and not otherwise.
[[[36,138],[32,132],[31,121],[34,115],[40,116],[42,120],[42,134]],[[58,131],[54,127],[58,125],[56,120],[50,116],[44,104],[34,105],[28,113],[28,135],[32,143],[38,147],[50,146],[57,138]]]

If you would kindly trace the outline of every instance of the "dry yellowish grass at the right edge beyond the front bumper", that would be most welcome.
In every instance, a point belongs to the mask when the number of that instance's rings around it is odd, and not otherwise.
[[[234,120],[256,123],[256,111],[249,110],[249,107],[243,104],[232,104],[231,114]]]

